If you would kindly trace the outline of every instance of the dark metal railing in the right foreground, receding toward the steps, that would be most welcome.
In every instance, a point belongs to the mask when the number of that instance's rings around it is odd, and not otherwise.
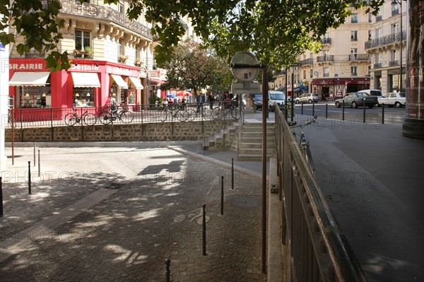
[[[276,110],[281,242],[290,281],[367,281],[281,110]]]

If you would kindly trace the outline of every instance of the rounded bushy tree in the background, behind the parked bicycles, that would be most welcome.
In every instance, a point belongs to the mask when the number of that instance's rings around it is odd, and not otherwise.
[[[167,61],[166,69],[168,80],[163,88],[167,89],[190,88],[197,93],[197,90],[207,86],[228,89],[231,83],[228,64],[192,40],[180,42]]]

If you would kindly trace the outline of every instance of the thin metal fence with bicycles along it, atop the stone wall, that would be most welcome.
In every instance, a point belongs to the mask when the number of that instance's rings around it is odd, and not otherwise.
[[[216,108],[222,109],[220,111]],[[6,128],[15,129],[33,127],[64,127],[66,114],[76,114],[81,120],[73,125],[89,126],[84,123],[83,115],[86,112],[94,114],[95,125],[102,124],[143,124],[148,122],[190,122],[211,119],[240,119],[241,110],[237,114],[225,109],[223,102],[206,102],[203,105],[196,103],[163,104],[163,105],[128,105],[117,107],[117,112],[128,111],[131,118],[112,119],[107,122],[102,119],[102,113],[110,112],[111,107],[61,107],[61,108],[18,108],[8,111]],[[186,118],[187,117],[187,118]],[[4,117],[6,119],[6,117]],[[94,125],[94,124],[90,124]]]

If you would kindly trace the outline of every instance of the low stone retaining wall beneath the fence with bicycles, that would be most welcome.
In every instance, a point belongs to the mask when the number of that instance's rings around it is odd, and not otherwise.
[[[99,124],[93,127],[40,127],[14,129],[15,142],[47,141],[202,141],[233,120],[158,122],[146,124]],[[12,141],[6,129],[6,142]]]

